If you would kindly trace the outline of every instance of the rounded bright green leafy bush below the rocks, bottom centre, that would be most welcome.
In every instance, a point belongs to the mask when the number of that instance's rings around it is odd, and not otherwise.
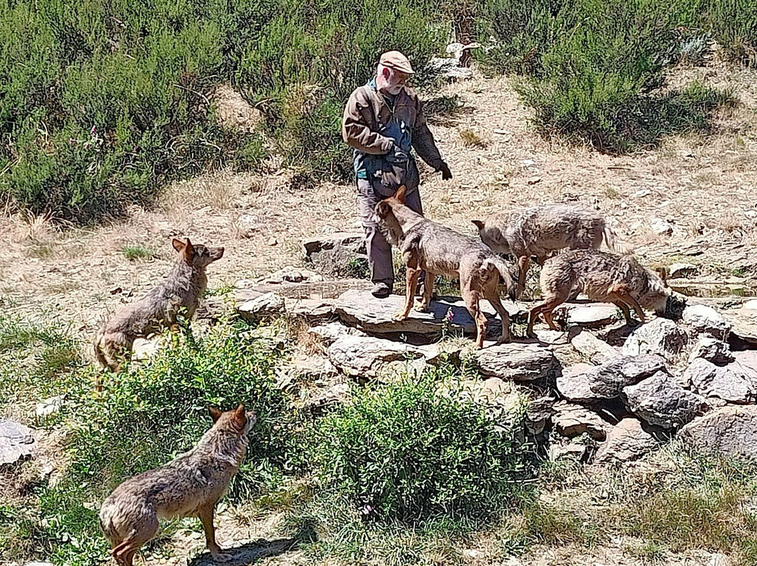
[[[378,389],[317,424],[314,461],[329,498],[365,518],[417,521],[504,508],[528,470],[522,410],[495,418],[435,372]]]

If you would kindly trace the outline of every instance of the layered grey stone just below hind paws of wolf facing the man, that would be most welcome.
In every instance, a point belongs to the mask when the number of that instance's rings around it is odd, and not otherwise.
[[[482,375],[512,381],[534,381],[555,375],[559,367],[552,348],[540,344],[496,344],[475,353]]]

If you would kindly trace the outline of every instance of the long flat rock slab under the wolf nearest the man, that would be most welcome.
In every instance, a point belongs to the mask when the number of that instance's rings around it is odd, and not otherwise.
[[[494,320],[494,308],[488,300],[482,300],[480,304],[481,310],[489,319],[488,334],[500,334],[502,326],[499,318]],[[519,306],[508,300],[503,300],[503,305],[511,317],[522,312]],[[397,316],[404,306],[405,297],[402,295],[389,295],[385,299],[377,299],[365,291],[353,290],[347,291],[336,300],[335,313],[348,325],[370,334],[433,335],[440,333],[445,325],[448,325],[450,330],[475,332],[475,323],[462,299],[440,297],[431,301],[428,313],[419,313],[413,309],[407,319],[395,321],[394,316]],[[451,311],[450,316],[447,316],[448,311]]]

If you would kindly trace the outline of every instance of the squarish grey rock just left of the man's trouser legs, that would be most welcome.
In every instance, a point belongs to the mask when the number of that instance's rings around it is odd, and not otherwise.
[[[303,242],[305,261],[319,273],[351,276],[357,266],[367,269],[366,236],[362,232],[336,232]]]

